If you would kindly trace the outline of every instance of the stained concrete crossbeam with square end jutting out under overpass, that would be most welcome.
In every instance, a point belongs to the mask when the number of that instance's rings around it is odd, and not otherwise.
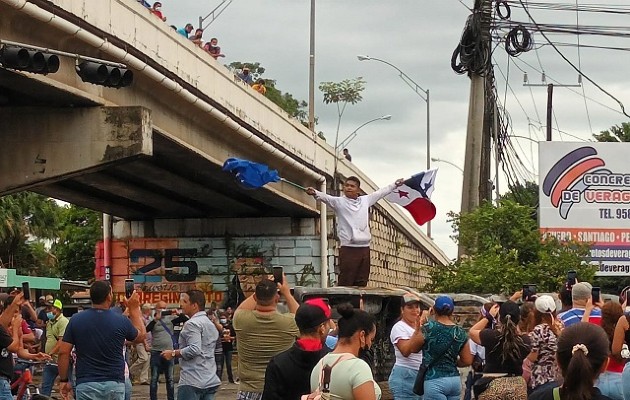
[[[0,108],[0,195],[153,152],[142,107]]]

